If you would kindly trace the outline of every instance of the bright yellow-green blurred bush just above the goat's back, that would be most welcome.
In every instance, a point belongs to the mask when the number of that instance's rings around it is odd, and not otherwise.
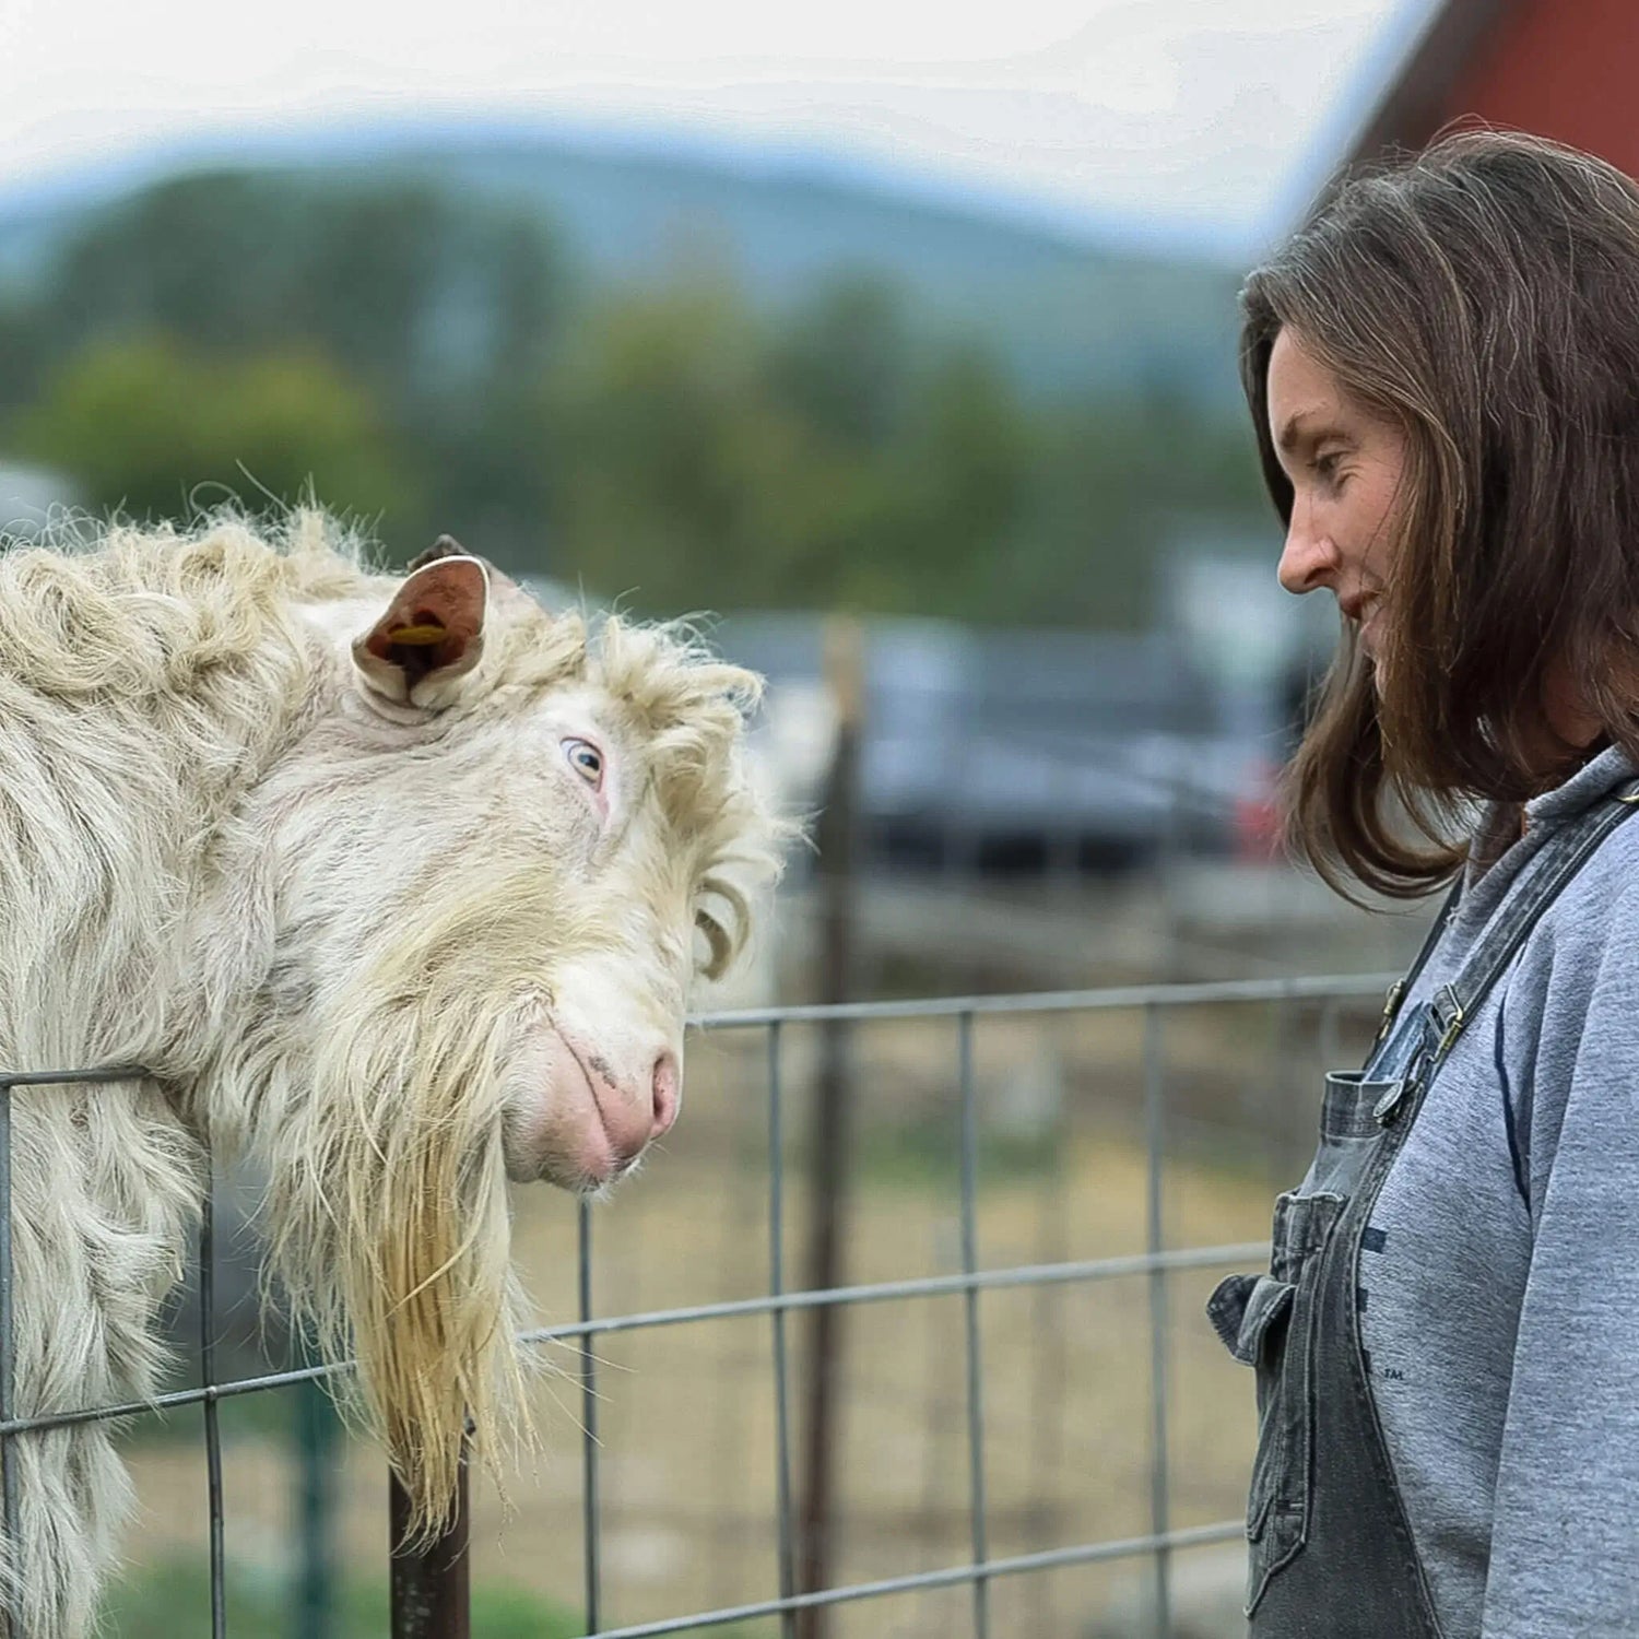
[[[385,513],[426,533],[423,502],[370,397],[316,352],[216,359],[151,336],[87,347],[18,416],[8,444],[79,484],[95,508],[187,513],[229,490]],[[207,488],[200,488],[200,487]]]

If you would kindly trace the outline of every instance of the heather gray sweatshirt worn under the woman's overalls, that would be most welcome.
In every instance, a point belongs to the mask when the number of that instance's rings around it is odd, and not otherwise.
[[[1523,839],[1518,813],[1488,816],[1410,1003],[1542,841],[1632,774],[1603,752],[1528,806]],[[1447,1639],[1639,1634],[1639,815],[1452,1049],[1360,1270],[1372,1390]]]

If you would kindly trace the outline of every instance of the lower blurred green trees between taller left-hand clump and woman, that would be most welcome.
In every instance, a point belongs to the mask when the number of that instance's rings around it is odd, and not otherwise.
[[[1182,520],[1264,505],[1239,426],[1028,405],[983,349],[911,343],[870,285],[783,325],[724,284],[606,297],[546,423],[554,572],[649,610],[1141,623]]]

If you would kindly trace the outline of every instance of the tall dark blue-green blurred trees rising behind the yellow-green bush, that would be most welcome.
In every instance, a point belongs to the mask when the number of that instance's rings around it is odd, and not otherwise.
[[[216,351],[316,346],[410,408],[543,367],[562,300],[534,213],[410,175],[228,170],[90,218],[34,323],[59,354],[154,331]]]

